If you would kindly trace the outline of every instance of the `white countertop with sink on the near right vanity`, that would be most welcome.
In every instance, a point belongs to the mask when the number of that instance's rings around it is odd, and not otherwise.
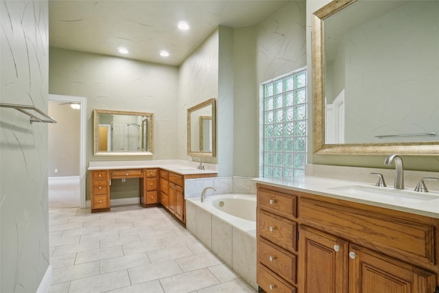
[[[399,190],[393,187],[375,187],[373,184],[312,176],[255,178],[254,181],[439,219],[439,193],[436,191],[421,193],[413,191],[413,189]]]

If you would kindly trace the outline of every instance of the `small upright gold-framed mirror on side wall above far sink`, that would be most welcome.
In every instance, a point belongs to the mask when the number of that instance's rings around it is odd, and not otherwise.
[[[216,105],[208,99],[187,109],[187,154],[215,156]]]

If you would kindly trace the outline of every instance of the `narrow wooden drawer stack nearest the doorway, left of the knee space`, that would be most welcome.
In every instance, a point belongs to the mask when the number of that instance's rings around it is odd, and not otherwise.
[[[110,171],[90,172],[91,212],[110,211]]]

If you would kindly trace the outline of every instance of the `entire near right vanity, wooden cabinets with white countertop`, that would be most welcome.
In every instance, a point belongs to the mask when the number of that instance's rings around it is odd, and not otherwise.
[[[438,293],[439,193],[301,176],[257,179],[265,292]]]

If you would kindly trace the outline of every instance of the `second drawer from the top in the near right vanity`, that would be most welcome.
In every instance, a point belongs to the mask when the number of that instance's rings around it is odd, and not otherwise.
[[[259,235],[289,251],[296,251],[297,223],[261,210],[258,213]]]

